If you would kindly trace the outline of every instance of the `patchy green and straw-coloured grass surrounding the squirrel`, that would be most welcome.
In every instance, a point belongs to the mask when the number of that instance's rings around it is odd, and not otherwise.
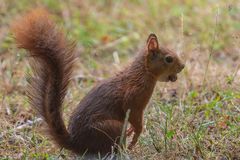
[[[45,125],[25,96],[31,69],[9,26],[37,6],[47,8],[78,42],[66,123],[93,85],[126,65],[154,32],[160,45],[181,54],[186,67],[176,83],[157,84],[144,132],[127,154],[133,159],[240,159],[240,3],[189,0],[0,0],[0,159],[76,158],[44,134]]]

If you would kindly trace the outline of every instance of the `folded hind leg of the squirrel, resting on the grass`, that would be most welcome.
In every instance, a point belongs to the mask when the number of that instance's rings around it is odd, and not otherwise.
[[[118,151],[123,122],[99,120],[85,126],[74,127],[69,129],[75,146],[74,152],[106,155]]]

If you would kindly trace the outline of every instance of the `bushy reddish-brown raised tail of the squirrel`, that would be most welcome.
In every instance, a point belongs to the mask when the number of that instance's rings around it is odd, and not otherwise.
[[[50,135],[61,146],[71,148],[71,138],[62,119],[63,100],[73,70],[74,43],[56,27],[44,9],[32,10],[13,25],[20,48],[33,57],[30,103],[48,124]]]

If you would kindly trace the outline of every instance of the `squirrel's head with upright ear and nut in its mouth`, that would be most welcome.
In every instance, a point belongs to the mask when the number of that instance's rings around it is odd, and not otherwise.
[[[177,74],[184,68],[184,64],[176,53],[167,48],[159,47],[155,34],[149,35],[144,54],[147,70],[161,82],[175,82]]]

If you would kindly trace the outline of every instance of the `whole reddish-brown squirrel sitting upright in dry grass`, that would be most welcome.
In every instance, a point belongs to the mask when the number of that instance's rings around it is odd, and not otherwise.
[[[176,81],[184,64],[174,52],[160,47],[157,36],[150,34],[145,47],[133,62],[115,76],[103,80],[80,101],[68,128],[62,107],[73,71],[74,43],[44,9],[32,10],[13,25],[19,48],[33,57],[30,104],[47,123],[49,133],[63,148],[77,154],[111,152],[119,144],[124,119],[130,110],[132,148],[143,130],[143,113],[157,81]]]

